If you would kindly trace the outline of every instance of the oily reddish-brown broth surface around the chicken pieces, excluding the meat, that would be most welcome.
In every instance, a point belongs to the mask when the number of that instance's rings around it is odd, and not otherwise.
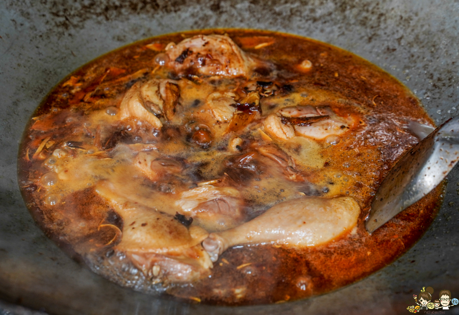
[[[209,149],[202,150],[188,144],[187,136],[173,126],[156,132],[145,125],[119,124],[110,115],[135,82],[170,76],[166,69],[153,62],[158,51],[149,49],[148,44],[161,46],[171,41],[180,42],[199,33],[227,33],[245,52],[276,64],[274,77],[260,71],[259,79],[277,82],[284,92],[262,98],[263,114],[278,107],[320,104],[332,106],[343,115],[354,113],[360,117],[359,126],[343,134],[335,145],[300,137],[288,141],[274,139],[274,143],[299,161],[297,167],[307,175],[310,184],[292,184],[280,177],[248,179],[254,188],[241,189],[243,197],[251,200],[248,218],[263,213],[273,204],[297,198],[298,192],[323,197],[351,196],[362,212],[351,233],[328,244],[302,250],[274,245],[236,246],[214,263],[211,277],[191,285],[163,286],[148,283],[122,254],[112,250],[117,241],[116,228],[122,230],[123,222],[97,195],[94,184],[106,173],[118,172],[120,181],[132,181],[137,193],[145,199],[157,200],[159,208],[162,202],[167,202],[162,201],[161,193],[152,197],[151,191],[153,188],[173,189],[173,183],[167,181],[172,179],[166,179],[161,187],[151,187],[144,178],[122,175],[132,161],[129,152],[117,153],[125,160],[107,159],[100,164],[100,159],[113,154],[117,143],[161,144],[158,146],[161,154],[172,155],[179,162],[187,160],[189,167],[184,176],[190,185],[221,175],[222,163],[230,158],[224,149],[227,139],[214,141]],[[267,41],[273,43],[258,46]],[[312,62],[312,69],[301,73],[294,66],[304,59]],[[236,85],[238,80],[235,81],[215,80],[211,85]],[[183,115],[177,117],[174,124],[185,125],[199,118],[203,102],[195,100],[207,94],[205,85],[190,81],[184,86],[181,89]],[[104,132],[97,129],[103,120],[110,122],[111,117],[112,129]],[[50,92],[24,133],[19,154],[19,183],[29,209],[47,235],[74,257],[85,261],[93,271],[121,285],[223,305],[295,300],[328,292],[382,268],[411,247],[435,217],[443,186],[397,215],[371,237],[365,231],[364,220],[374,191],[397,158],[418,141],[407,129],[410,120],[433,125],[419,101],[402,84],[367,61],[336,47],[261,31],[171,34],[102,56],[73,72]],[[214,134],[223,132],[221,125],[212,128]],[[48,137],[41,151],[35,154]],[[245,141],[262,141],[260,138],[254,130],[247,134]],[[94,155],[98,163],[95,173],[84,171],[85,168],[94,171],[91,159],[85,159],[84,165],[63,163],[69,176],[78,180],[66,186],[60,186],[59,182],[46,186],[46,179],[42,178],[49,172],[53,151],[69,142],[66,147],[72,148],[68,150],[70,156],[73,150],[86,150]],[[112,153],[92,152],[96,144]],[[243,188],[247,184],[239,185]]]

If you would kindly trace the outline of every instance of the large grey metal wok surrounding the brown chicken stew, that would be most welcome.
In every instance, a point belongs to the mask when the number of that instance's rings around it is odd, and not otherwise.
[[[181,30],[270,29],[343,47],[406,84],[440,124],[458,114],[458,16],[449,0],[0,2],[0,313],[16,312],[10,303],[52,314],[392,314],[423,286],[459,296],[458,167],[435,222],[391,265],[323,296],[237,308],[147,296],[93,274],[44,236],[16,181],[22,130],[54,85],[116,47]]]

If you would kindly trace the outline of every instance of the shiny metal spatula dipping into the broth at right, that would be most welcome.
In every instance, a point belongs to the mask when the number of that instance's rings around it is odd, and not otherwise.
[[[395,215],[422,199],[459,160],[459,116],[421,139],[392,167],[371,203],[365,227],[373,233]]]

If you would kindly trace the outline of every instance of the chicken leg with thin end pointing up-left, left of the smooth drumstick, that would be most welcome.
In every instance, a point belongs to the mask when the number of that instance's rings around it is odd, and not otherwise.
[[[106,182],[100,182],[96,191],[123,219],[121,241],[114,249],[124,252],[146,277],[191,282],[210,274],[212,262],[200,244],[206,230],[187,228],[172,215],[126,201],[107,189]]]

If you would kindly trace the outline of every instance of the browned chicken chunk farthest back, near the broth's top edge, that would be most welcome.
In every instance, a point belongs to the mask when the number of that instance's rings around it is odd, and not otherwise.
[[[179,75],[248,77],[256,61],[228,36],[197,35],[166,49],[166,65]]]

